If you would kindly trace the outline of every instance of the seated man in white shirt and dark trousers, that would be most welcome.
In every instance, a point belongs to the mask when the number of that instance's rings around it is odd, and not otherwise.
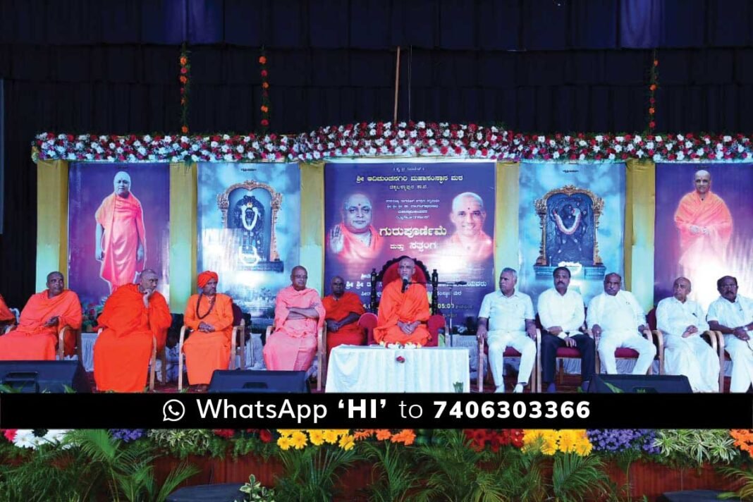
[[[575,347],[581,353],[581,382],[587,388],[596,369],[596,344],[593,338],[581,333],[585,313],[583,297],[569,290],[570,270],[566,266],[554,269],[554,288],[538,297],[538,317],[541,321],[541,379],[547,392],[555,392],[554,373],[557,349]]]

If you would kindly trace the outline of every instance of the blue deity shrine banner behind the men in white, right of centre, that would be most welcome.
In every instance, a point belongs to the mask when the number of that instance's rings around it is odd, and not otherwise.
[[[518,288],[535,303],[567,266],[588,303],[623,271],[625,165],[521,163]],[[624,282],[623,282],[624,287]]]

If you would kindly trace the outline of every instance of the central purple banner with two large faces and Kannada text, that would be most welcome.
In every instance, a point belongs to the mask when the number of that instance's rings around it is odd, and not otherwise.
[[[327,164],[325,288],[342,275],[368,306],[371,269],[405,254],[441,282],[465,281],[439,288],[462,331],[494,291],[494,186],[492,162]]]

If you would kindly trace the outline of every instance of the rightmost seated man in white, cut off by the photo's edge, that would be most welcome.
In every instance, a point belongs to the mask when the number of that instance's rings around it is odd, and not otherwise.
[[[747,392],[753,382],[753,300],[737,294],[737,279],[725,275],[716,281],[718,297],[709,306],[709,327],[724,335],[732,359],[730,392]]]

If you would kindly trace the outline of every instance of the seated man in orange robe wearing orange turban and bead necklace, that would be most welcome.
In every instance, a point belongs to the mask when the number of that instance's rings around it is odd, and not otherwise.
[[[227,370],[233,336],[233,300],[217,292],[218,275],[207,270],[197,280],[199,294],[188,299],[184,324],[193,333],[183,343],[188,383],[206,390],[215,370]]]

